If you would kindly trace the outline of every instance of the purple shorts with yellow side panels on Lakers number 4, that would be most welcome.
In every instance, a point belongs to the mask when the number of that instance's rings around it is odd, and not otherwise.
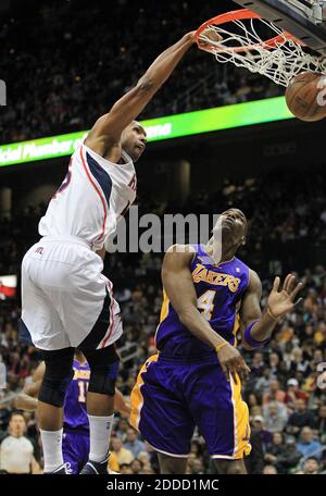
[[[165,455],[187,457],[196,426],[213,458],[249,455],[240,380],[226,381],[215,356],[186,360],[154,355],[146,361],[131,393],[131,425]]]

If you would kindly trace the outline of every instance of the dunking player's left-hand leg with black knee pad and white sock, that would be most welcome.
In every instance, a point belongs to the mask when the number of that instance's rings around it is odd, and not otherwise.
[[[54,472],[63,466],[63,404],[74,375],[74,348],[42,351],[42,358],[46,372],[38,396],[37,417],[43,447],[45,472]]]

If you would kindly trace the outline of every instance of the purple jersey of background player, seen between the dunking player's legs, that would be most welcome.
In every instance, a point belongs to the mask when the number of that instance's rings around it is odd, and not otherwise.
[[[74,360],[75,374],[67,388],[64,400],[64,430],[78,429],[89,431],[88,417],[86,411],[86,394],[89,383],[90,370],[87,362],[83,365]]]

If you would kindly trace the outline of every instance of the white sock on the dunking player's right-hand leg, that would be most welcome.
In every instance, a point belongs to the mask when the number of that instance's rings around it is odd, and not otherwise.
[[[110,436],[114,414],[110,417],[88,416],[89,420],[89,459],[103,461],[109,452]]]

